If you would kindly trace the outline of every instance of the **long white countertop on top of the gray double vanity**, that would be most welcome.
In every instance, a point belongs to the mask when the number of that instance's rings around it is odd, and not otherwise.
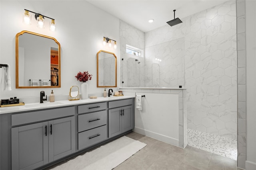
[[[58,100],[55,102],[44,102],[44,103],[29,103],[25,104],[23,106],[11,106],[11,107],[0,107],[0,114],[4,113],[15,113],[20,111],[31,111],[31,110],[37,110],[37,109],[48,109],[48,108],[54,108],[54,107],[63,107],[63,106],[74,106],[78,104],[90,104],[90,103],[96,103],[96,102],[108,102],[108,101],[114,101],[114,100],[121,100],[121,99],[128,99],[128,98],[134,98],[134,96],[111,96],[111,97],[98,97],[97,99],[80,99],[80,100]]]

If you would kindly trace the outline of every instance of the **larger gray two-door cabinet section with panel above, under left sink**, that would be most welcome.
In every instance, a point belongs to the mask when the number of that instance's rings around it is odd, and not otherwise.
[[[31,113],[36,115],[42,111],[14,114],[12,123],[16,124],[22,114],[26,117]],[[46,116],[41,119],[72,116],[12,127],[12,170],[32,170],[75,152],[74,107],[49,109],[44,113]],[[27,117],[20,122],[32,119]]]

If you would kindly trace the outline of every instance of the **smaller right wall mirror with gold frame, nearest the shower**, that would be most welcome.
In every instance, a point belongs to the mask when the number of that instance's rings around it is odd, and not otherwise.
[[[116,86],[116,55],[100,50],[97,53],[97,87]]]

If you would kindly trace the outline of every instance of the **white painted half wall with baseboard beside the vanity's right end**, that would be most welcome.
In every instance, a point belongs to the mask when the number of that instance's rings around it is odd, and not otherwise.
[[[179,146],[178,94],[136,94],[145,97],[142,97],[142,111],[135,108],[134,131]]]

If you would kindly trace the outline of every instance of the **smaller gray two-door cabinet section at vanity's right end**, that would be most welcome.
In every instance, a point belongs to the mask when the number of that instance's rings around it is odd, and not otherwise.
[[[109,138],[129,131],[134,128],[133,99],[109,102],[108,110],[108,134]],[[127,106],[128,105],[128,106]],[[119,107],[118,107],[119,106]],[[123,107],[120,107],[123,106]]]

